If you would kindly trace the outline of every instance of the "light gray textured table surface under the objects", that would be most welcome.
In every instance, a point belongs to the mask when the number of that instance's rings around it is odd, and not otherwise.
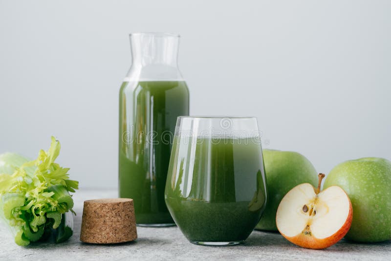
[[[391,241],[357,244],[343,239],[325,250],[311,250],[291,244],[278,233],[261,231],[254,231],[244,244],[227,247],[191,244],[177,227],[137,227],[138,239],[129,243],[82,243],[79,238],[84,200],[108,197],[117,197],[116,191],[76,192],[74,235],[61,244],[21,247],[0,225],[0,260],[391,260]]]

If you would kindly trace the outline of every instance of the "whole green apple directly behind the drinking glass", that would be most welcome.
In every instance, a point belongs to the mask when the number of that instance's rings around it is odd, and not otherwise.
[[[267,202],[256,229],[278,231],[276,213],[283,196],[302,183],[318,184],[318,175],[311,162],[297,152],[263,150],[267,183]]]

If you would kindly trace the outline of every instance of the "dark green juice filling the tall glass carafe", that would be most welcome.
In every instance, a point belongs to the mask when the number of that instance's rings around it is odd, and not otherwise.
[[[176,118],[189,115],[184,81],[129,81],[120,89],[119,196],[137,224],[174,223],[164,201]]]

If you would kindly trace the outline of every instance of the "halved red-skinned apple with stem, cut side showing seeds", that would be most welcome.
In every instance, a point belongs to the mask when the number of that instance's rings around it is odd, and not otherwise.
[[[317,189],[309,183],[291,189],[277,209],[277,229],[296,245],[323,249],[348,233],[353,216],[350,199],[338,186],[321,192],[324,177],[319,174]]]

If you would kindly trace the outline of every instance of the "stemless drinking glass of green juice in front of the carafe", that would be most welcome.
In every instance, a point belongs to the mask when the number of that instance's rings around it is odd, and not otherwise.
[[[261,134],[254,117],[178,117],[165,201],[190,242],[243,242],[266,204]]]

